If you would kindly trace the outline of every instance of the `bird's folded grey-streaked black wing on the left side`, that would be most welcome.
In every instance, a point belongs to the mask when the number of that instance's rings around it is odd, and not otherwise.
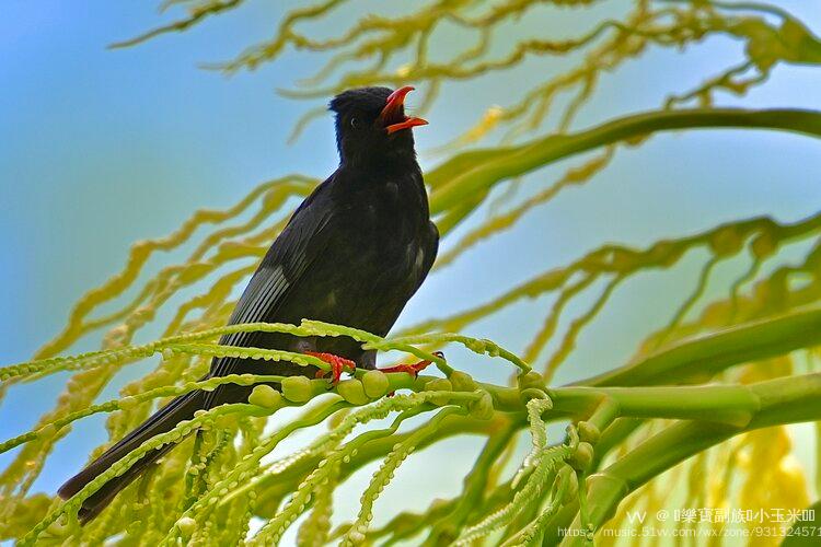
[[[333,233],[334,209],[326,202],[312,207],[333,177],[309,196],[291,217],[263,258],[247,288],[236,303],[229,325],[269,321],[276,309],[304,272],[323,255]],[[323,207],[324,206],[324,207]],[[233,333],[220,338],[223,346],[250,347],[258,333]],[[238,358],[218,358],[211,363],[209,376],[224,376],[234,372]],[[205,408],[211,408],[223,386],[209,392]]]

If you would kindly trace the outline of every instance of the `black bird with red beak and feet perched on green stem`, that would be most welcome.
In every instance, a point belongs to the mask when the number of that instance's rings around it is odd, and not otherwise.
[[[346,91],[331,102],[329,108],[336,113],[339,166],[299,206],[270,246],[230,324],[299,325],[311,318],[388,334],[428,275],[439,245],[410,131],[427,121],[404,112],[405,96],[412,90],[363,88]],[[347,337],[238,333],[223,336],[220,344],[316,356],[331,364],[334,382],[344,369],[375,368],[375,351],[365,351]],[[390,370],[415,373],[426,364]],[[207,377],[314,372],[316,369],[288,362],[215,358]],[[144,441],[192,419],[199,409],[244,403],[252,389],[224,384],[212,392],[196,391],[175,398],[70,478],[59,494],[70,498]],[[172,447],[167,444],[146,454],[106,482],[83,502],[80,520],[88,522],[97,515]]]

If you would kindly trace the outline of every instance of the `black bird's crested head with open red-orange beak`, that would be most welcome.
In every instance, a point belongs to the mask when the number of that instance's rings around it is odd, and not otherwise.
[[[405,116],[405,96],[412,91],[409,85],[396,91],[360,88],[331,101],[329,107],[336,113],[336,146],[343,163],[390,164],[416,159],[410,128],[427,121]]]

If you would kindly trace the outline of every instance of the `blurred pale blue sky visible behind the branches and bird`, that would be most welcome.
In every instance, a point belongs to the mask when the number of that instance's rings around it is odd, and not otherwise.
[[[320,59],[289,53],[275,65],[230,79],[197,68],[204,61],[231,58],[269,36],[278,16],[293,4],[250,1],[246,8],[184,35],[107,50],[108,44],[163,21],[150,2],[4,2],[0,362],[26,360],[56,334],[77,298],[122,267],[130,243],[173,231],[197,208],[233,203],[265,179],[293,172],[323,177],[333,171],[336,151],[329,117],[310,126],[300,141],[288,147],[293,123],[315,103],[275,93],[319,68]],[[778,4],[821,34],[818,2]],[[361,13],[375,2],[351,5]],[[618,12],[623,5],[612,2],[588,13]],[[331,33],[350,16],[340,14],[315,25],[315,31]],[[563,11],[523,21],[520,30],[581,34],[592,19],[586,18],[590,15],[585,12]],[[451,45],[446,36],[438,47]],[[506,46],[509,43],[500,39],[495,47],[504,51]],[[577,127],[656,107],[668,93],[690,89],[738,59],[739,47],[720,38],[686,54],[650,49],[641,60],[605,77]],[[419,149],[446,142],[488,105],[506,104],[510,82],[524,86],[558,71],[562,63],[536,59],[506,78],[451,86],[428,115],[430,126],[417,131]],[[818,69],[782,66],[771,82],[741,103],[818,108],[820,97]],[[721,96],[720,103],[738,104],[738,100]],[[438,162],[424,153],[421,161],[425,167]],[[525,194],[548,184],[570,164],[529,177]],[[808,138],[732,130],[656,137],[640,149],[620,152],[611,168],[589,185],[564,193],[516,230],[431,278],[402,323],[488,300],[501,288],[605,242],[645,245],[762,213],[798,220],[818,210],[819,181],[821,146]],[[703,259],[694,255],[667,276],[648,275],[626,283],[585,334],[558,381],[624,362],[648,328],[670,317],[678,305],[669,299],[671,291],[686,294]],[[717,278],[729,279],[739,267],[743,260],[722,266]],[[472,326],[467,334],[520,350],[548,304],[545,300],[523,303]],[[78,349],[92,346],[93,340]],[[473,366],[472,372],[487,380],[507,375],[484,363],[470,364],[473,361],[469,363],[467,356],[458,351],[449,357],[464,357],[459,364]],[[0,403],[0,438],[27,430],[61,382],[65,376],[54,376],[13,388]],[[37,489],[54,491],[82,465],[89,449],[105,439],[102,423],[102,419],[88,420],[76,428]],[[799,453],[809,461],[812,444],[806,437],[799,439]],[[442,450],[469,447],[453,444]],[[0,465],[7,461],[0,456]],[[428,466],[423,478],[414,475],[424,465],[410,462],[402,472],[407,473],[402,477],[415,476],[416,489],[427,492],[420,499],[456,491],[459,477],[447,466],[440,466],[441,472]]]

